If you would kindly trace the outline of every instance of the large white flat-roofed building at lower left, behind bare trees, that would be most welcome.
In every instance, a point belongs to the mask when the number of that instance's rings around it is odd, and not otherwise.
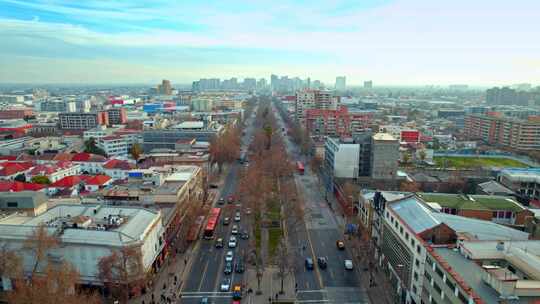
[[[46,253],[49,261],[71,263],[83,284],[101,285],[98,277],[100,259],[123,247],[140,252],[143,271],[147,273],[165,245],[160,211],[138,207],[57,205],[37,217],[13,215],[0,220],[0,244],[20,254],[26,273],[31,272],[35,260],[23,249],[23,243],[39,225],[46,225],[47,233],[57,236],[60,241],[60,246]],[[41,265],[38,272],[44,266]]]

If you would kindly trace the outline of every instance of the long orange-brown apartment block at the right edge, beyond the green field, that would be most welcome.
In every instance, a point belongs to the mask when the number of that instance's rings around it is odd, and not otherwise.
[[[497,112],[465,118],[465,135],[472,140],[518,150],[540,149],[540,117],[527,120],[504,117]]]

